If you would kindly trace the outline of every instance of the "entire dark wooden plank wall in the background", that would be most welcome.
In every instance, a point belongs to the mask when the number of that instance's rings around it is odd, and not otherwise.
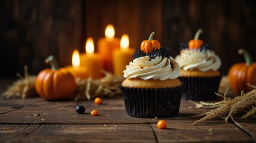
[[[71,64],[72,51],[84,52],[89,36],[102,38],[107,24],[115,35],[127,33],[130,46],[138,48],[151,32],[162,45],[179,54],[179,44],[188,42],[199,28],[200,36],[220,55],[221,73],[243,62],[237,49],[247,49],[256,61],[256,2],[187,0],[67,0],[0,1],[0,77],[38,74],[48,67],[44,59],[53,54],[60,66]],[[96,50],[97,51],[97,50]]]

